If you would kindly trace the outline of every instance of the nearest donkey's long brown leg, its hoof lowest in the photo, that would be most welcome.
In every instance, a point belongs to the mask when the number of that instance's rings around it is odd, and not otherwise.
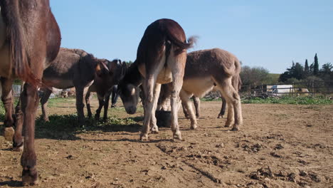
[[[23,167],[23,184],[35,184],[38,181],[38,172],[36,169],[35,153],[35,117],[38,106],[37,88],[25,84],[21,94],[21,107],[23,111],[23,126],[25,127],[24,148],[21,157]]]

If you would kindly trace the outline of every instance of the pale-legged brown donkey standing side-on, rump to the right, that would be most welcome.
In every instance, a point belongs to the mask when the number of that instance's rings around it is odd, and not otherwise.
[[[189,113],[191,129],[196,129],[198,123],[189,98],[192,95],[201,97],[216,86],[229,106],[226,127],[233,125],[232,130],[239,130],[243,124],[238,95],[239,73],[238,59],[227,51],[213,48],[188,53],[184,84],[179,95],[183,107]],[[199,103],[196,108],[199,109]]]

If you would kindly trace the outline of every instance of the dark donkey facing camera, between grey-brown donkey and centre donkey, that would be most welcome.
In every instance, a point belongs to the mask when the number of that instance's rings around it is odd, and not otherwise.
[[[85,103],[87,105],[88,117],[92,116],[90,110],[90,93],[96,92],[99,106],[96,110],[95,119],[100,119],[100,110],[104,106],[103,120],[107,119],[107,109],[109,108],[110,95],[112,93],[113,86],[117,85],[119,81],[124,77],[126,73],[126,63],[115,59],[113,61],[105,61],[109,71],[97,71],[93,85],[88,89],[85,95]]]

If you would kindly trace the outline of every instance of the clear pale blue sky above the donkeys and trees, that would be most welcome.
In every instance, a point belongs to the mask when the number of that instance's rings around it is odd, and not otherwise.
[[[51,0],[61,46],[97,58],[134,61],[147,26],[177,21],[186,36],[199,36],[191,51],[222,48],[245,66],[282,73],[292,61],[333,63],[333,1],[113,1]]]

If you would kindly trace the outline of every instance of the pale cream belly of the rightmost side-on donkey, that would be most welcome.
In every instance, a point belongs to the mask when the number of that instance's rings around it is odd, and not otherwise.
[[[182,90],[188,93],[193,93],[196,97],[202,97],[213,89],[213,80],[210,77],[206,78],[191,78],[184,80]]]

